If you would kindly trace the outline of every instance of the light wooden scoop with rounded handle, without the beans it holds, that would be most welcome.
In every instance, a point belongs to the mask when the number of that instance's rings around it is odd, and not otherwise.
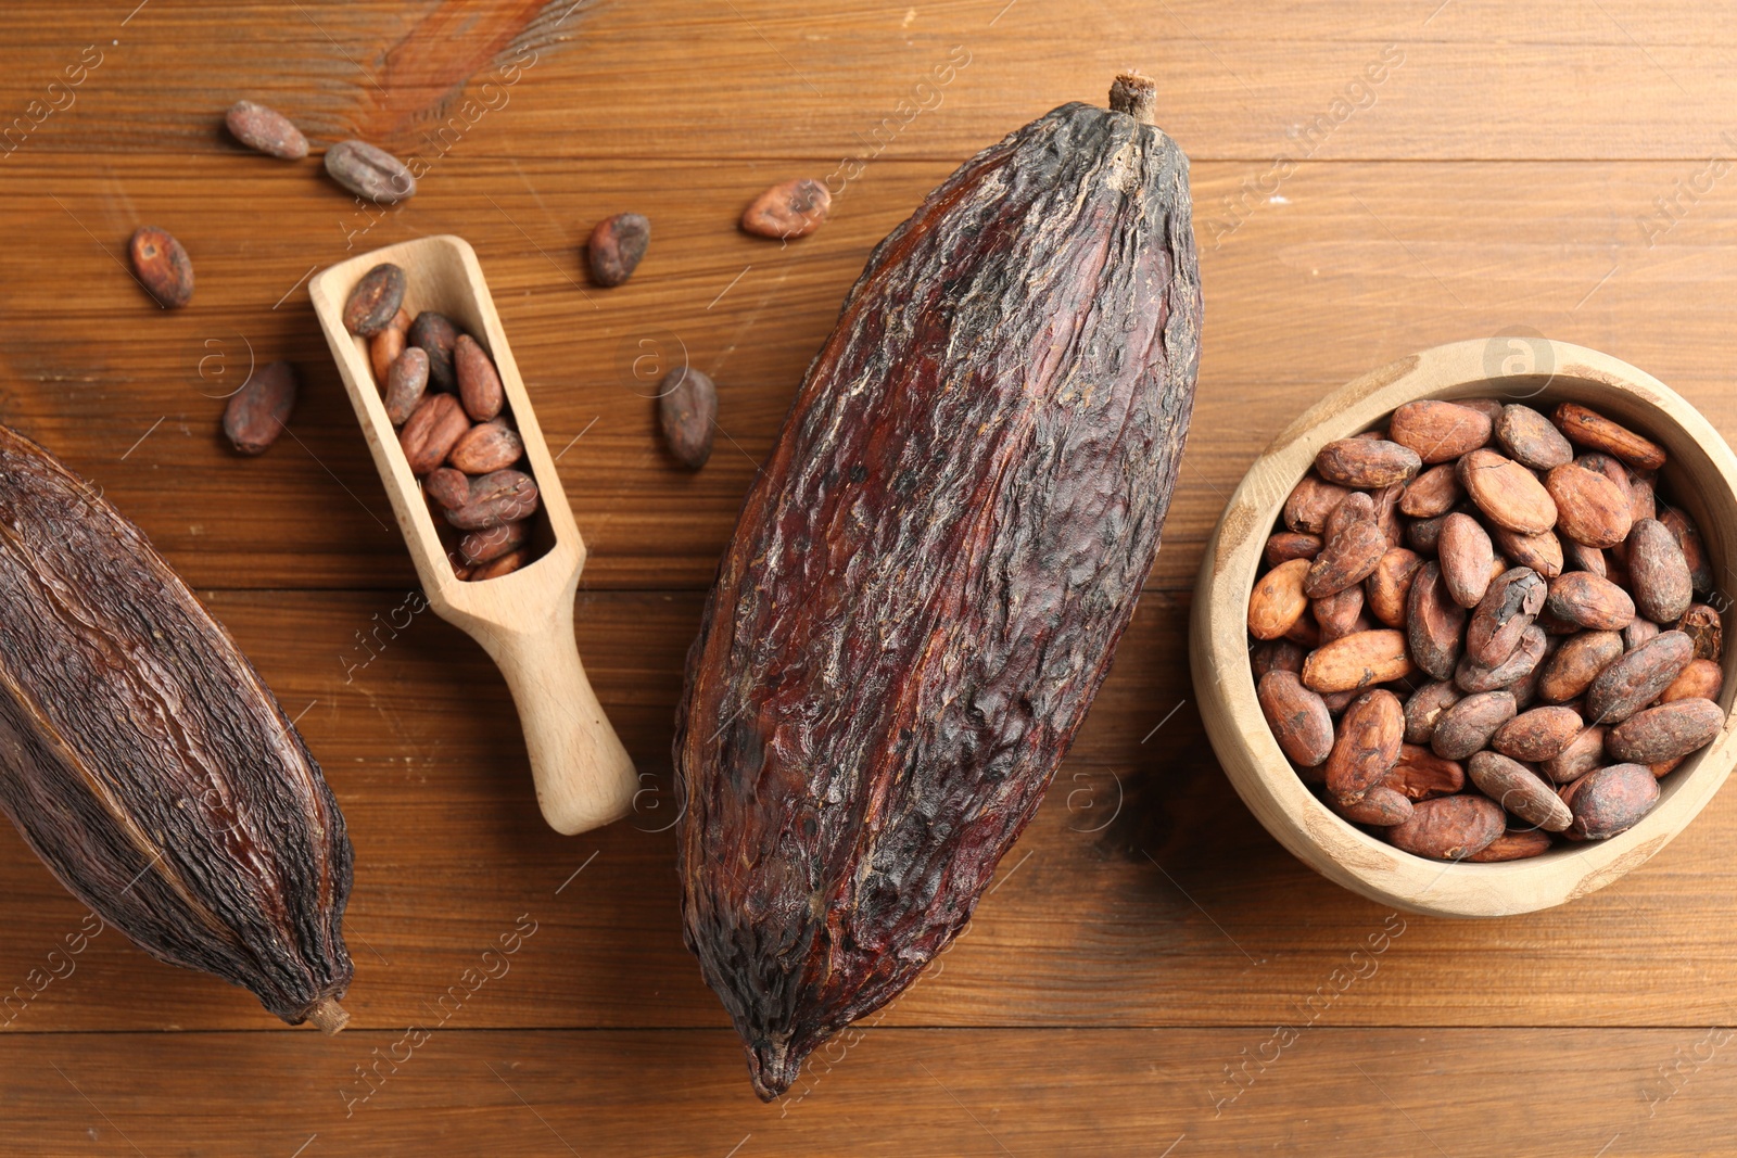
[[[424,309],[446,314],[495,359],[507,408],[525,439],[528,470],[542,497],[530,535],[533,554],[540,557],[518,571],[471,583],[460,580],[446,559],[422,486],[386,417],[367,339],[344,328],[351,288],[380,262],[405,271],[405,309],[412,316]],[[507,677],[544,819],[568,835],[620,819],[637,788],[634,764],[610,727],[573,642],[573,597],[585,566],[585,543],[566,507],[476,252],[462,238],[419,238],[332,266],[307,290],[429,606],[483,644]]]

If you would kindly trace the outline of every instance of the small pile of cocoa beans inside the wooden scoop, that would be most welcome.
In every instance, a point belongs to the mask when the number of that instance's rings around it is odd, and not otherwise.
[[[344,325],[368,339],[386,415],[460,580],[488,580],[532,561],[537,483],[512,427],[488,351],[450,318],[403,309],[405,271],[380,264],[344,304]]]

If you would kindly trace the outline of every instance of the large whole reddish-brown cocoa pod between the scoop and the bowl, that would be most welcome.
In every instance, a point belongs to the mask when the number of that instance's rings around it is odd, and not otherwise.
[[[766,1101],[964,929],[1110,667],[1193,405],[1190,215],[1150,111],[976,155],[874,250],[743,502],[674,760],[684,939]]]

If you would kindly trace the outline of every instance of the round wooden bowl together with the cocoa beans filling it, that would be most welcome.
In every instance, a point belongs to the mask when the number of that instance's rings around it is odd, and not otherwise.
[[[1410,911],[1600,889],[1737,764],[1737,457],[1650,375],[1544,342],[1383,366],[1291,424],[1202,561],[1212,747],[1299,859]]]

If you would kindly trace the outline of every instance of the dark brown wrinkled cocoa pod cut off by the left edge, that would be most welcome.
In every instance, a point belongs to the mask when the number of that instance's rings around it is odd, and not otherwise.
[[[0,807],[153,957],[342,1026],[351,847],[320,766],[139,528],[7,427]]]

